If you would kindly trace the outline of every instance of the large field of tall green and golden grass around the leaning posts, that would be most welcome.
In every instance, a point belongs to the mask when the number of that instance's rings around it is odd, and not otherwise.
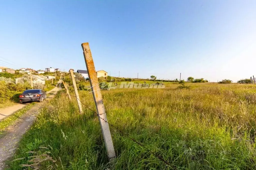
[[[170,165],[111,126],[117,159],[109,164],[98,118],[87,108],[95,110],[92,94],[80,91],[83,114],[74,97],[60,93],[41,110],[9,169],[256,169],[255,85],[165,85],[102,94],[108,121]]]

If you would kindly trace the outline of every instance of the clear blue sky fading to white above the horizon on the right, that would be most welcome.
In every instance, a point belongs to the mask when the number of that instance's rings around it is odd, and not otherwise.
[[[111,76],[256,76],[256,1],[0,0],[0,66],[96,70]]]

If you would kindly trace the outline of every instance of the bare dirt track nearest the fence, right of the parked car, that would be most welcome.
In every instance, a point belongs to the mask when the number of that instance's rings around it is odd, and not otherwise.
[[[40,108],[44,105],[45,102],[50,100],[49,98],[53,98],[54,95],[57,94],[59,90],[61,90],[60,82],[61,81],[58,82],[58,87],[55,87],[54,89],[47,92],[50,95],[47,96],[48,99],[46,101],[37,103],[25,114],[20,116],[14,125],[8,127],[5,136],[0,138],[0,170],[4,169],[4,162],[14,154],[18,141],[33,124]]]

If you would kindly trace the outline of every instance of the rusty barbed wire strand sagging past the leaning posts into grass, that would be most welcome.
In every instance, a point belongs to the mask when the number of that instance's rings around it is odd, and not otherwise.
[[[72,97],[76,97],[76,96],[73,96],[73,95],[70,95]],[[77,98],[77,97],[76,97]],[[77,98],[77,100],[79,100]],[[101,114],[97,114],[96,111],[92,110],[90,107],[88,107],[88,105],[84,104],[81,100],[79,100],[86,108],[88,108],[89,110],[91,110],[92,112],[94,112],[100,119],[102,119],[104,122],[108,123],[110,126],[112,126],[113,128],[115,128],[116,130],[118,130],[122,135],[128,137],[129,139],[131,139],[132,141],[134,141],[136,144],[140,145],[141,147],[145,148],[148,152],[152,153],[156,158],[158,158],[159,160],[161,160],[162,162],[164,162],[165,164],[171,166],[171,164],[169,164],[167,161],[164,160],[164,158],[161,156],[161,155],[157,155],[155,154],[154,152],[152,152],[150,149],[148,149],[147,147],[145,147],[142,143],[136,141],[135,139],[131,138],[127,133],[124,133],[122,130],[120,130],[119,128],[117,128],[116,126],[114,126],[113,124],[109,123],[108,121],[106,121],[105,119],[103,119],[102,117],[100,117],[99,115]],[[106,113],[106,112],[105,112]],[[102,114],[105,114],[105,113],[102,113]]]

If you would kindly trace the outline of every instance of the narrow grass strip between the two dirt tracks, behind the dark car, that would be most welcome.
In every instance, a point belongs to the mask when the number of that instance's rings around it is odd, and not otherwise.
[[[14,114],[9,115],[8,117],[5,117],[4,119],[0,120],[0,135],[5,133],[5,128],[12,125],[21,115],[26,113],[27,110],[29,110],[33,105],[35,105],[35,102],[27,104],[24,108],[14,112]]]

